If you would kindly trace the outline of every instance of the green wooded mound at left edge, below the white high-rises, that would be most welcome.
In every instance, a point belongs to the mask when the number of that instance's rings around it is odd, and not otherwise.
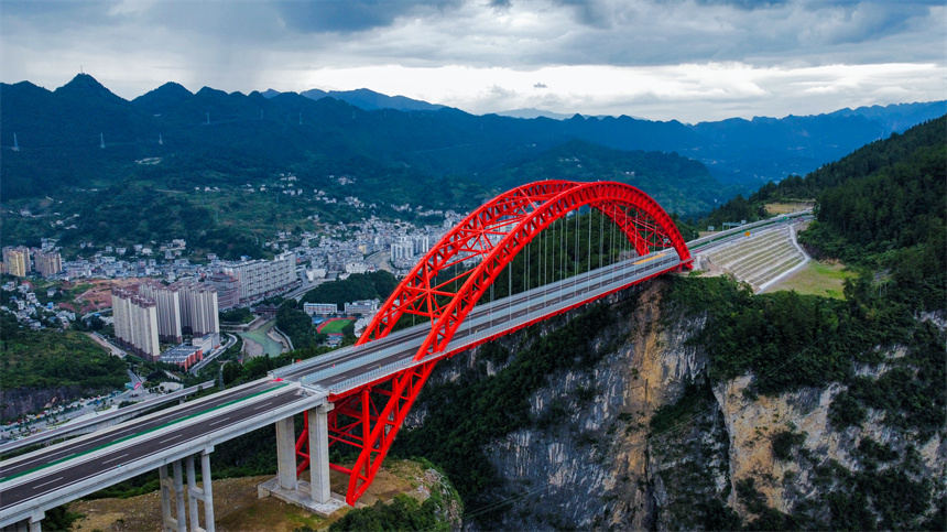
[[[126,363],[76,332],[29,330],[0,312],[0,388],[78,387],[115,390],[128,381]]]

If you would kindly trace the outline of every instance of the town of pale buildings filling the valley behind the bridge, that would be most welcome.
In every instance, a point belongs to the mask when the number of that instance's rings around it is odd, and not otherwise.
[[[322,191],[314,193],[325,202],[337,200]],[[352,207],[363,205],[355,197],[342,200]],[[0,273],[7,275],[0,311],[12,313],[21,326],[34,330],[64,329],[95,317],[111,326],[111,340],[123,350],[186,370],[220,347],[220,312],[258,305],[266,311],[261,303],[274,296],[300,298],[322,283],[379,269],[403,275],[461,217],[454,210],[417,207],[417,213],[444,216],[444,222],[417,227],[371,216],[359,224],[324,224],[318,231],[279,231],[265,243],[275,254],[272,260],[244,256],[225,261],[215,253],[195,258],[179,238],[130,247],[83,242],[83,253],[66,259],[54,238],[42,238],[39,248],[8,246],[0,265]],[[106,286],[107,294],[96,298],[79,293],[68,301],[68,287],[89,282]],[[314,323],[337,314],[361,318],[357,333],[377,310],[377,301],[352,301],[341,310],[331,303],[304,305]],[[338,345],[336,336],[326,345]],[[185,339],[189,341],[184,344]]]

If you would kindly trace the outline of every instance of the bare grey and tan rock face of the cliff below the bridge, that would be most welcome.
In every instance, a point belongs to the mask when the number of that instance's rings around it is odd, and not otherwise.
[[[840,384],[777,397],[749,392],[752,376],[711,386],[708,355],[689,341],[706,318],[663,305],[667,283],[655,280],[613,297],[609,312],[617,319],[589,338],[595,363],[547,374],[529,397],[531,421],[489,441],[486,456],[501,481],[481,493],[490,507],[468,503],[479,525],[728,530],[755,520],[768,529],[826,526],[831,498],[850,495],[869,474],[888,478],[890,489],[919,487],[926,496],[918,495],[924,507],[916,514],[936,511],[945,493],[943,430],[922,442],[874,412],[861,427],[834,430],[829,408]],[[504,361],[483,360],[482,348],[459,355],[432,383],[477,371],[496,376],[580,313],[501,339],[511,351]],[[885,367],[863,370],[880,374]],[[422,397],[409,426],[422,425],[433,408]],[[886,449],[886,458],[867,460],[866,445]],[[904,475],[894,475],[905,464]]]

